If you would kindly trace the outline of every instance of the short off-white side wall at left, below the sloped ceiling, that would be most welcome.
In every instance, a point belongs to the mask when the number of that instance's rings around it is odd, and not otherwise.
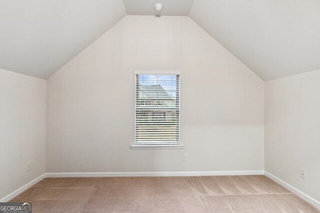
[[[0,199],[45,173],[45,87],[0,69]]]

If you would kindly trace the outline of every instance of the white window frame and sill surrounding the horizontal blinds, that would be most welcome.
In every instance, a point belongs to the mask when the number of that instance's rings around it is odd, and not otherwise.
[[[167,144],[167,145],[136,145],[135,144],[135,137],[133,145],[131,145],[131,149],[183,149],[183,145],[180,142],[180,103],[181,103],[181,76],[180,71],[160,71],[160,70],[134,70],[134,82],[136,81],[136,75],[179,75],[179,144]],[[134,83],[134,108],[136,107],[135,103],[136,98],[136,83]],[[134,132],[135,132],[135,119],[136,114],[134,110]],[[135,135],[135,134],[134,134]]]

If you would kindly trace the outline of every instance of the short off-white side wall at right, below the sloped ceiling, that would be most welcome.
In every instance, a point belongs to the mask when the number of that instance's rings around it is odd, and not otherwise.
[[[320,70],[265,83],[265,170],[320,201]],[[306,180],[299,177],[305,170]]]

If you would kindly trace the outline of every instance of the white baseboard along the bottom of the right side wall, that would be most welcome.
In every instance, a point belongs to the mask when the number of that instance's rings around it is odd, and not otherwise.
[[[304,194],[303,192],[301,192],[300,190],[292,187],[291,185],[285,183],[284,181],[282,181],[281,179],[275,177],[274,175],[271,175],[268,172],[264,172],[264,175],[266,177],[268,177],[269,179],[273,180],[274,182],[280,184],[282,187],[286,188],[287,190],[291,191],[292,193],[294,193],[295,195],[297,195],[298,197],[300,197],[301,199],[303,199],[304,201],[312,204],[314,207],[316,207],[317,209],[320,210],[320,202],[315,200],[314,198]]]

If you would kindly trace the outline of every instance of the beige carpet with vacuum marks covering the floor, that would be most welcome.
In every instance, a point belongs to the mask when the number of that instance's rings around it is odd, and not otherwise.
[[[33,213],[319,213],[265,176],[46,178],[10,202]]]

